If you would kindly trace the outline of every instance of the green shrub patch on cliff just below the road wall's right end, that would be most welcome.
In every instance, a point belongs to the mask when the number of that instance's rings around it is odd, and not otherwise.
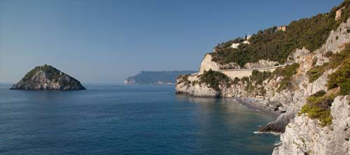
[[[297,68],[299,68],[298,63],[293,63],[292,65],[287,65],[286,67],[277,68],[272,73],[274,76],[283,76],[283,79],[277,88],[277,91],[284,90],[292,85],[292,76],[297,73]]]

